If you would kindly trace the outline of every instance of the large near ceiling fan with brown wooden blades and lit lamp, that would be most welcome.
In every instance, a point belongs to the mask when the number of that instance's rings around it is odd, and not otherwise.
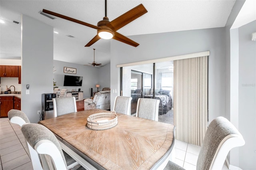
[[[86,22],[82,22],[80,20],[76,20],[74,18],[70,18],[68,16],[61,15],[55,12],[51,12],[45,9],[43,9],[42,12],[96,29],[97,35],[94,38],[92,38],[92,40],[88,42],[85,45],[85,47],[91,46],[92,44],[100,40],[100,38],[103,38],[103,39],[113,38],[120,42],[127,43],[129,45],[137,47],[138,45],[140,45],[139,43],[134,42],[133,40],[127,38],[126,36],[123,36],[122,34],[119,34],[116,31],[122,28],[123,26],[129,24],[133,20],[139,18],[143,14],[146,14],[148,11],[142,4],[140,4],[110,22],[107,17],[107,0],[105,0],[105,16],[103,17],[103,20],[98,22],[97,26],[88,24]]]

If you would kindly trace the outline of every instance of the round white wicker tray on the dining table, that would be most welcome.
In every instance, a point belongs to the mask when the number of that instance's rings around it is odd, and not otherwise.
[[[113,112],[113,111],[112,111]],[[96,113],[88,116],[87,127],[95,130],[112,128],[117,125],[117,115],[114,113]]]

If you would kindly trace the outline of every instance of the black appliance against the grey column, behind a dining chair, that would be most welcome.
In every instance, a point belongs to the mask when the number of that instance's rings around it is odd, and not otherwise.
[[[56,98],[56,93],[42,94],[42,120],[54,117],[53,98]]]

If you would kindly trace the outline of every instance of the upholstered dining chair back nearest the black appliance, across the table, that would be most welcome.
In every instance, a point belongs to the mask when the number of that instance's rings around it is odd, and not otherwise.
[[[75,97],[53,98],[54,117],[77,112]]]

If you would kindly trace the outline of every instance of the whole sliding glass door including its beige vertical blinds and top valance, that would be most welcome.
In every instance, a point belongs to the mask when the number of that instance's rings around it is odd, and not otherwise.
[[[208,121],[209,54],[205,51],[120,66],[121,90],[124,96],[132,97],[132,113],[136,113],[139,98],[159,99],[158,121],[176,125],[178,140],[200,146]]]

